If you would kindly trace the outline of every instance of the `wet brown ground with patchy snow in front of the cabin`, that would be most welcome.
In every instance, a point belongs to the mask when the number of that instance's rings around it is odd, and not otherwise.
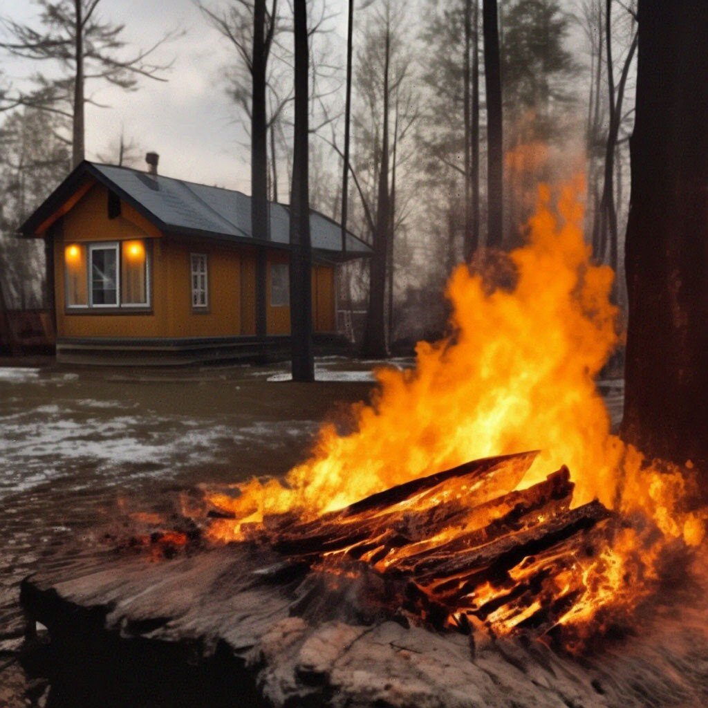
[[[282,474],[321,421],[367,399],[371,362],[317,363],[318,381],[286,365],[179,370],[23,367],[0,361],[0,708],[42,706],[47,683],[17,661],[18,583],[116,508],[147,510],[200,483]],[[409,366],[407,360],[393,365]],[[602,382],[615,423],[618,382]]]

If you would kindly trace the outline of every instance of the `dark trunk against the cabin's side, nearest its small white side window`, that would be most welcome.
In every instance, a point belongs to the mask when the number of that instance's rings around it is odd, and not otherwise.
[[[265,108],[265,0],[253,1],[253,58],[251,101],[251,232],[256,241],[268,240],[268,119]],[[256,268],[256,334],[265,337],[266,303],[264,253]]]

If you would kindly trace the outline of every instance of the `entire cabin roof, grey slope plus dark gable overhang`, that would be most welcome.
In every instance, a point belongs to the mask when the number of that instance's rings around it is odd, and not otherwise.
[[[45,231],[62,206],[93,177],[122,200],[135,207],[159,229],[185,236],[200,236],[220,241],[253,242],[251,198],[235,190],[210,187],[184,180],[152,175],[115,165],[84,161],[42,202],[20,227],[24,236]],[[290,209],[277,202],[269,203],[270,239],[268,244],[289,246]],[[340,225],[310,210],[312,248],[343,255]],[[347,232],[346,255],[366,256],[371,247]]]

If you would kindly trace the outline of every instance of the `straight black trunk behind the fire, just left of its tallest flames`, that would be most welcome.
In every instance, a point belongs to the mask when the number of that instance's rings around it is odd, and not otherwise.
[[[496,0],[484,0],[482,13],[487,103],[487,246],[498,249],[503,235],[504,190],[501,57]]]

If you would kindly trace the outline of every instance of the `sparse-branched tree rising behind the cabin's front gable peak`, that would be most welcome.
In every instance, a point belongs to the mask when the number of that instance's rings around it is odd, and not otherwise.
[[[6,102],[20,103],[63,116],[71,123],[72,166],[84,159],[86,104],[100,106],[86,95],[88,81],[104,81],[125,91],[137,89],[141,78],[166,81],[170,64],[156,64],[154,52],[175,33],[167,33],[145,50],[124,56],[125,25],[102,20],[101,0],[35,0],[41,8],[35,28],[10,19],[3,24],[8,40],[0,47],[16,57],[57,64],[59,77],[35,74],[32,91],[11,93]]]

